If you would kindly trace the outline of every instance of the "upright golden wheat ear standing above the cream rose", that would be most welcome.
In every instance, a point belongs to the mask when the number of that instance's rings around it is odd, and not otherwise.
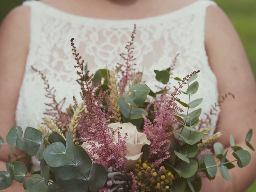
[[[120,107],[118,105],[118,98],[120,96],[120,93],[119,93],[118,82],[116,79],[116,70],[114,69],[110,71],[110,77],[108,78],[108,88],[110,89],[109,98],[110,98],[111,110],[114,117],[114,121],[120,122],[122,119]]]

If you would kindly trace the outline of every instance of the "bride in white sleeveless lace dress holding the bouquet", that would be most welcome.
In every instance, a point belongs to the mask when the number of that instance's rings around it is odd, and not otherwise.
[[[144,80],[151,87],[156,85],[154,70],[168,68],[179,54],[175,76],[201,71],[196,96],[204,98],[202,114],[227,92],[235,95],[211,116],[212,132],[216,127],[225,133],[220,142],[226,150],[230,134],[247,148],[244,137],[254,128],[256,116],[254,78],[232,24],[210,0],[25,1],[0,27],[1,136],[5,138],[15,124],[36,128],[41,122],[48,100],[44,84],[31,66],[46,75],[57,90],[57,98],[66,97],[68,105],[79,92],[70,39],[75,38],[78,52],[95,72],[122,61],[118,54],[123,52],[134,24],[134,53],[138,70],[144,68]],[[10,149],[3,146],[0,170],[5,169],[8,154]],[[212,182],[204,180],[202,191],[244,191],[256,177],[255,158],[254,152],[246,168],[230,170],[230,182],[220,173]],[[14,190],[23,188],[16,183],[6,192]]]

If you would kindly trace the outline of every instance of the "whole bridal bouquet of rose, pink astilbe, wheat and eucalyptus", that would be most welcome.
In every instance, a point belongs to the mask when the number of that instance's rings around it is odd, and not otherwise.
[[[191,100],[199,87],[199,71],[175,77],[177,86],[171,89],[175,59],[170,68],[155,70],[163,86],[158,92],[142,82],[143,73],[134,69],[134,34],[135,29],[127,52],[120,54],[124,64],[94,75],[71,40],[82,102],[74,98],[74,105],[66,110],[62,110],[65,99],[57,101],[46,77],[34,69],[42,76],[52,103],[46,104],[47,116],[38,129],[27,127],[24,133],[19,126],[10,129],[7,143],[25,154],[10,159],[7,172],[0,171],[1,190],[16,180],[27,192],[198,192],[201,178],[214,179],[217,168],[230,180],[232,162],[240,168],[248,165],[250,153],[236,146],[232,136],[235,160],[229,161],[228,151],[215,142],[222,132],[209,135],[210,116],[200,118],[198,106],[203,99]],[[180,94],[187,95],[189,102],[179,100]],[[213,111],[214,107],[210,114]],[[245,142],[254,150],[251,137],[252,130]],[[3,142],[0,138],[0,145]],[[40,161],[40,171],[32,175],[20,162],[28,156]]]

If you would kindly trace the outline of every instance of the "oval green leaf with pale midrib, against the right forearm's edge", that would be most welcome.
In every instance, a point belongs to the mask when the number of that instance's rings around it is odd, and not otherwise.
[[[214,178],[217,172],[217,167],[214,167],[216,166],[214,157],[210,154],[206,154],[201,158],[200,163],[204,164],[208,176],[210,176],[210,178]]]

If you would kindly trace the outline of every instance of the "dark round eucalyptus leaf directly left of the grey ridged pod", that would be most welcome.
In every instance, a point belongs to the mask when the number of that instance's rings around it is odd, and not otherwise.
[[[106,169],[99,164],[93,164],[88,176],[88,184],[91,192],[98,192],[104,187],[108,174]]]

